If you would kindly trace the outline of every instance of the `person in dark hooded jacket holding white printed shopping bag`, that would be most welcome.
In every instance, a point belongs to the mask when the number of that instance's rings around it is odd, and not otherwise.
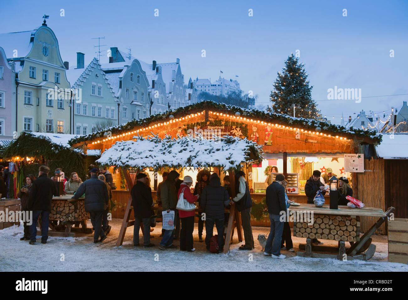
[[[177,191],[175,183],[179,178],[179,173],[177,171],[170,171],[167,175],[167,179],[163,182],[161,187],[160,198],[162,199],[162,210],[169,213],[171,210],[174,211],[177,206]],[[167,248],[177,248],[173,245],[175,229],[165,230],[163,238],[160,241],[159,249],[166,250]]]

